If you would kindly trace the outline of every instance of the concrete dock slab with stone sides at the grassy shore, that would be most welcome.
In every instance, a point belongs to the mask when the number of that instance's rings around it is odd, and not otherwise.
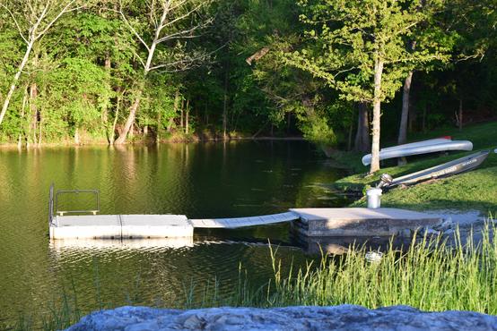
[[[397,208],[295,208],[292,228],[310,237],[391,236],[438,225],[440,216]]]

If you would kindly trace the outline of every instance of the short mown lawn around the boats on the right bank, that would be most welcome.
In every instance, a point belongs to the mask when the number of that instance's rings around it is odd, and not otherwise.
[[[415,135],[413,140],[437,138],[451,135],[453,140],[470,140],[474,151],[495,149],[497,147],[497,122],[468,126],[462,131],[440,130],[426,135]],[[395,143],[392,143],[395,145]],[[390,145],[386,145],[390,146]],[[407,165],[392,165],[395,160],[385,162],[379,173],[391,174],[394,177],[410,174],[434,165],[464,157],[472,152],[451,152],[450,155],[430,155],[409,158]],[[338,156],[340,157],[340,156]],[[368,167],[360,165],[362,155],[350,153],[342,155],[352,166],[356,174],[336,182],[340,190],[363,191],[368,185],[374,186],[379,181],[379,174],[367,176]],[[392,166],[388,166],[392,165]],[[364,198],[355,201],[354,207],[364,206]],[[408,188],[396,188],[386,192],[381,199],[384,207],[411,209],[477,209],[484,213],[497,210],[497,155],[491,153],[484,163],[466,174],[458,174],[445,179],[420,183]]]

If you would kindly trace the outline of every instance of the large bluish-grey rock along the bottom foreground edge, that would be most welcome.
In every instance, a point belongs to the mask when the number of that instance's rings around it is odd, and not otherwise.
[[[408,306],[101,310],[69,327],[80,330],[497,330],[497,317],[470,311],[423,312]]]

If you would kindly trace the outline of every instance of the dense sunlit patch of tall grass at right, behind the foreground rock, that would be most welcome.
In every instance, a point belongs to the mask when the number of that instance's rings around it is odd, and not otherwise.
[[[364,259],[365,248],[340,259],[323,256],[296,276],[281,275],[274,261],[275,290],[268,306],[359,304],[369,308],[404,304],[420,310],[473,310],[497,314],[497,242],[495,225],[485,225],[483,240],[463,245],[414,237],[405,251],[388,250],[379,262]]]

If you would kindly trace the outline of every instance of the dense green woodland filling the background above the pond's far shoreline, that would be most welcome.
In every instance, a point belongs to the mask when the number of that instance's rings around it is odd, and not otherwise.
[[[375,153],[380,123],[402,143],[497,115],[496,6],[0,0],[0,142],[303,135]]]

